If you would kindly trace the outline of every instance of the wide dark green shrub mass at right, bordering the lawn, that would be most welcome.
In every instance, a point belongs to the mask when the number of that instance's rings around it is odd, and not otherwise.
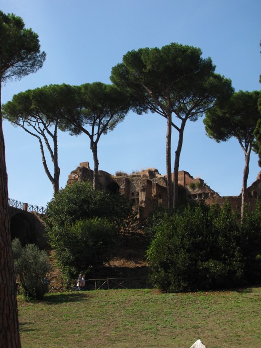
[[[154,225],[147,252],[164,291],[231,287],[261,281],[261,209],[243,222],[229,205],[186,207]]]

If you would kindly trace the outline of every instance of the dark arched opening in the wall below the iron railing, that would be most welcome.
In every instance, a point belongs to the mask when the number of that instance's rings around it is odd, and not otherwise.
[[[18,238],[21,245],[34,242],[34,230],[28,217],[23,213],[15,214],[10,219],[11,239]]]

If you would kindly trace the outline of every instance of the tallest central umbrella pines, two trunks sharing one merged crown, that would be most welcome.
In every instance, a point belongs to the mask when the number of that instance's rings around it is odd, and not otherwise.
[[[232,93],[230,80],[215,74],[210,58],[196,47],[171,43],[159,48],[132,50],[112,68],[111,81],[127,92],[138,113],[156,112],[167,119],[166,168],[168,204],[172,206],[171,136],[178,132],[174,164],[174,205],[177,173],[186,121],[196,121],[217,100]],[[172,114],[176,116],[175,121]]]

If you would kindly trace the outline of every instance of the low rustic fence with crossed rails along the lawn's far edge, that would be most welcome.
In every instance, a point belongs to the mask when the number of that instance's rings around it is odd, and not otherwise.
[[[77,291],[78,280],[51,280],[48,292]],[[85,290],[147,289],[151,288],[147,278],[103,278],[85,279]]]

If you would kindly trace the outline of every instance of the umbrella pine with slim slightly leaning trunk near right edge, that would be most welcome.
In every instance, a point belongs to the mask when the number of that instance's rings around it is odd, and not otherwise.
[[[238,140],[244,155],[245,168],[242,185],[241,216],[244,215],[247,180],[249,174],[250,154],[255,140],[257,122],[261,119],[258,110],[259,91],[242,91],[234,93],[230,100],[215,106],[206,112],[203,120],[207,135],[216,140],[228,141],[234,137]]]

